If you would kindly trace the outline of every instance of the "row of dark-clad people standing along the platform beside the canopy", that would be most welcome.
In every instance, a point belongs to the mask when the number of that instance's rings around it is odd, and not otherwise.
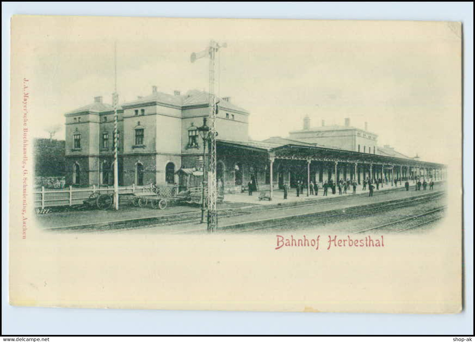
[[[400,179],[395,179],[392,181],[394,186],[398,186],[398,183],[401,184],[402,180]],[[430,183],[427,183],[426,180],[423,180],[421,182],[418,180],[416,182],[416,190],[420,190],[421,186],[424,190],[427,190],[427,185],[429,185],[429,190],[434,189],[434,181],[431,180]],[[336,190],[338,189],[338,193],[340,195],[348,193],[348,190],[352,189],[352,194],[356,194],[356,188],[358,186],[358,182],[356,180],[339,180],[337,183],[335,183],[332,179],[327,180],[323,183],[323,196],[328,196],[328,190],[330,189],[332,191],[332,194],[336,194]],[[368,189],[369,194],[368,196],[373,196],[374,189],[379,190],[380,187],[383,187],[383,180],[382,179],[375,179],[371,180],[371,178],[366,178],[362,182],[362,190],[366,191]],[[406,188],[406,191],[409,191],[409,180],[406,180],[404,183],[404,187]],[[300,197],[301,194],[303,194],[304,189],[307,189],[307,185],[304,183],[304,181],[297,180],[297,183],[295,184],[295,190],[297,197]],[[284,183],[283,185],[283,190],[284,190],[284,199],[287,199],[288,192],[290,190],[290,186],[288,183]],[[319,186],[317,182],[310,181],[309,187],[309,195],[314,195],[318,196],[318,190]],[[250,193],[252,194],[252,192]]]

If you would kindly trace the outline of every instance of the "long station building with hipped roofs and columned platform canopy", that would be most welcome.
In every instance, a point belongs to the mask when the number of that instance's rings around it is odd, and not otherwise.
[[[216,120],[217,178],[225,192],[240,192],[248,183],[255,190],[295,186],[298,180],[323,183],[349,179],[438,180],[443,164],[420,161],[378,147],[378,135],[350,125],[311,127],[265,141],[248,138],[249,112],[218,99]],[[66,184],[114,183],[114,108],[97,96],[94,102],[65,114]],[[139,96],[118,109],[119,185],[178,184],[201,170],[203,142],[198,127],[209,116],[209,94],[191,90],[173,95],[157,91]],[[204,161],[206,162],[206,160]],[[180,170],[182,172],[180,172]],[[185,172],[186,171],[186,172]]]

